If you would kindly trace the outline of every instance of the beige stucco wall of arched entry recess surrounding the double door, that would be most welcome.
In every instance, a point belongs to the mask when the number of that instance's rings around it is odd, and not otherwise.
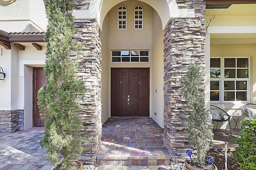
[[[127,29],[117,29],[117,8],[127,8]],[[110,69],[150,68],[150,117],[163,127],[163,31],[157,12],[139,1],[122,2],[106,15],[102,32],[102,123],[110,117]],[[134,7],[144,9],[144,29],[134,29]],[[154,23],[154,24],[152,24]],[[150,50],[149,63],[112,63],[111,50]],[[156,92],[157,90],[157,92]],[[157,116],[154,113],[157,113]]]

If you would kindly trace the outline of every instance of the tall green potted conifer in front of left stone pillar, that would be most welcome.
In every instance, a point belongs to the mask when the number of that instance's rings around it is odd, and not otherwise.
[[[83,126],[77,115],[77,100],[85,88],[76,74],[77,62],[70,57],[79,46],[74,45],[72,39],[75,33],[73,6],[73,0],[46,3],[49,24],[44,37],[47,42],[44,73],[47,86],[38,91],[38,105],[45,119],[40,145],[47,148],[46,156],[52,164],[62,160],[62,170],[68,170],[73,164],[70,160],[78,158],[82,152],[80,131]],[[82,169],[81,162],[78,168]]]

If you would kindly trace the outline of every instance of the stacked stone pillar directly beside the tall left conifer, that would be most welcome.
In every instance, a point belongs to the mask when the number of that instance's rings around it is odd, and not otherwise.
[[[81,101],[79,115],[84,126],[82,135],[90,135],[91,142],[83,143],[80,156],[84,163],[96,163],[101,145],[101,41],[98,24],[95,20],[74,20],[74,39],[82,44],[79,76],[85,83],[86,91]]]

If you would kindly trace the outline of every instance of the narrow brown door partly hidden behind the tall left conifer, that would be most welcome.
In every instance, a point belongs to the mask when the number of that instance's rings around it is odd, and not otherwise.
[[[44,68],[33,68],[33,126],[44,127],[44,120],[40,119],[40,112],[37,105],[38,90],[46,84],[46,77],[44,75]]]

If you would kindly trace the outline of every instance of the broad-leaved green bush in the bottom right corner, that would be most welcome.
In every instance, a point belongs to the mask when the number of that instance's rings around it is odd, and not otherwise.
[[[237,158],[242,170],[256,170],[256,118],[246,117],[242,121],[240,138],[233,139],[239,146],[232,158]]]

